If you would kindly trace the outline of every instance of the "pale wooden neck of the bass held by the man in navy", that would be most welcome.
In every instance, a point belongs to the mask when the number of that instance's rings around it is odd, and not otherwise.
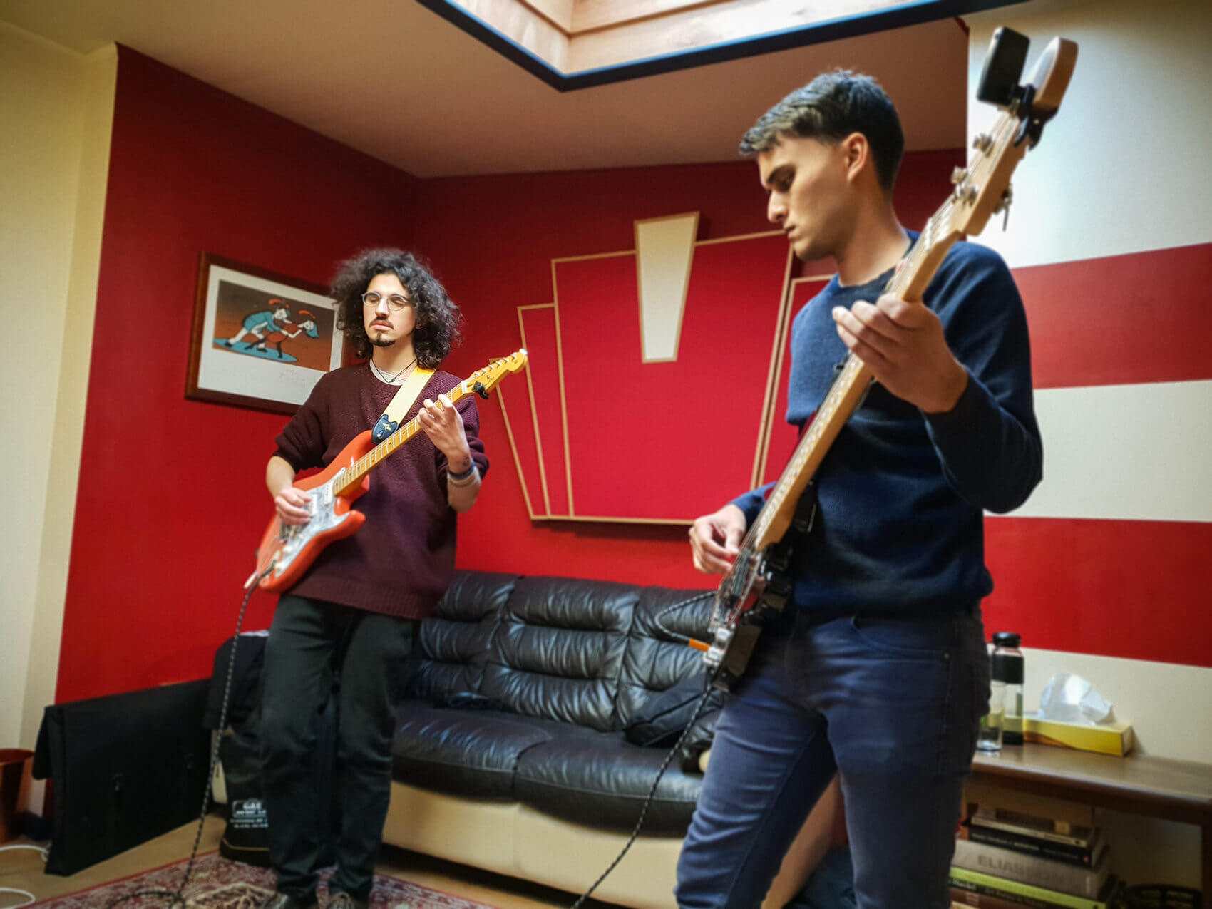
[[[950,205],[951,200],[948,200],[926,224],[913,248],[905,255],[904,267],[885,286],[885,293],[896,295],[910,303],[921,302],[926,286],[957,238],[956,234],[941,227],[947,223]],[[816,476],[829,446],[863,400],[871,381],[870,368],[853,354],[847,354],[837,378],[829,388],[829,394],[812,416],[812,422],[795,446],[791,459],[749,528],[745,545],[751,551],[764,550],[787,533],[800,496]]]

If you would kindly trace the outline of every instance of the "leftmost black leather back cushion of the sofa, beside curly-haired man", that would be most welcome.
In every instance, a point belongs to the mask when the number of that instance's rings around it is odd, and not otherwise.
[[[484,664],[516,574],[457,571],[433,616],[421,623],[408,696],[438,704],[479,692]]]

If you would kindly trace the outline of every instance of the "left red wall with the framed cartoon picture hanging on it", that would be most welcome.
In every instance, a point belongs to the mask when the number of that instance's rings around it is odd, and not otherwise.
[[[270,518],[285,418],[184,398],[199,253],[326,284],[361,246],[410,242],[415,190],[120,50],[58,701],[207,674]],[[255,595],[245,627],[271,602]]]

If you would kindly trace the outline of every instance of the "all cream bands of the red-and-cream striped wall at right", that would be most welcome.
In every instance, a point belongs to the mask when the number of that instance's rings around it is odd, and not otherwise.
[[[971,28],[970,98],[997,25],[1031,39],[1028,68],[1053,35],[1079,45],[1060,113],[1014,173],[1010,230],[1002,233],[994,218],[981,242],[1012,267],[1212,242],[1212,168],[1206,160],[1212,4],[1108,0],[1052,4],[1039,12],[1035,6],[965,17]],[[995,115],[971,102],[970,135],[987,128]],[[1191,292],[1207,296],[1207,288]],[[1036,394],[1045,473],[1051,475],[1017,515],[1212,520],[1212,473],[1206,468],[1212,382]],[[1099,416],[1103,423],[1092,431]],[[1114,425],[1125,434],[1102,434]],[[1064,469],[1079,464],[1080,473]],[[1125,490],[1128,482],[1134,488]],[[1164,616],[1155,604],[1142,607]],[[1212,669],[1028,647],[1024,654],[1028,709],[1053,673],[1077,673],[1114,703],[1119,718],[1132,722],[1143,753],[1212,761]],[[1115,812],[1107,827],[1113,870],[1121,877],[1200,886],[1196,828]]]

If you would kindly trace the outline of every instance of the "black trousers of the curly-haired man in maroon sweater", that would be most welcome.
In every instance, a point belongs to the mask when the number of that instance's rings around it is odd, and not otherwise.
[[[370,897],[391,789],[394,707],[416,623],[282,596],[265,644],[262,784],[278,890],[313,902],[320,861],[316,741],[337,686],[333,785],[341,814],[330,892]]]

